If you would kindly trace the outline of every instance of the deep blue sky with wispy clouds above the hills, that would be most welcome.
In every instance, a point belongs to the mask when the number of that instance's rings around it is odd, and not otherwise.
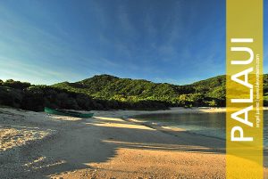
[[[223,0],[1,1],[0,14],[1,79],[182,85],[225,74]]]

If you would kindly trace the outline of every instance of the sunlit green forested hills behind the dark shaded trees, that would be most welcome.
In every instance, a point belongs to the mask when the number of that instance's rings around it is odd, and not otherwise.
[[[155,101],[169,106],[222,106],[225,103],[225,77],[213,77],[192,85],[156,84],[143,79],[100,75],[76,83],[53,85],[95,99],[119,102]]]

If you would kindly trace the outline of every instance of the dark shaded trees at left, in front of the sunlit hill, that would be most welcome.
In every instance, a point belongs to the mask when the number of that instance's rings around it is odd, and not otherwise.
[[[167,108],[164,102],[120,102],[93,99],[88,94],[71,92],[49,85],[30,85],[29,83],[13,81],[12,79],[5,82],[0,80],[0,105],[35,111],[42,111],[45,106],[70,110],[155,110]]]

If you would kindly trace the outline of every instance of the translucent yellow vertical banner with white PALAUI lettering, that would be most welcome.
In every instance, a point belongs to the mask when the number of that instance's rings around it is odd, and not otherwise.
[[[226,1],[226,176],[264,178],[263,0]]]

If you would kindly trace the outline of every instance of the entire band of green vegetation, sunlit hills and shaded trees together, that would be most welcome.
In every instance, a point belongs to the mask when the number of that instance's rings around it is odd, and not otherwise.
[[[43,110],[45,106],[73,110],[220,107],[225,106],[225,76],[212,77],[191,85],[156,84],[109,75],[55,85],[0,80],[0,104],[25,110]],[[264,75],[264,104],[268,104],[267,75]]]

